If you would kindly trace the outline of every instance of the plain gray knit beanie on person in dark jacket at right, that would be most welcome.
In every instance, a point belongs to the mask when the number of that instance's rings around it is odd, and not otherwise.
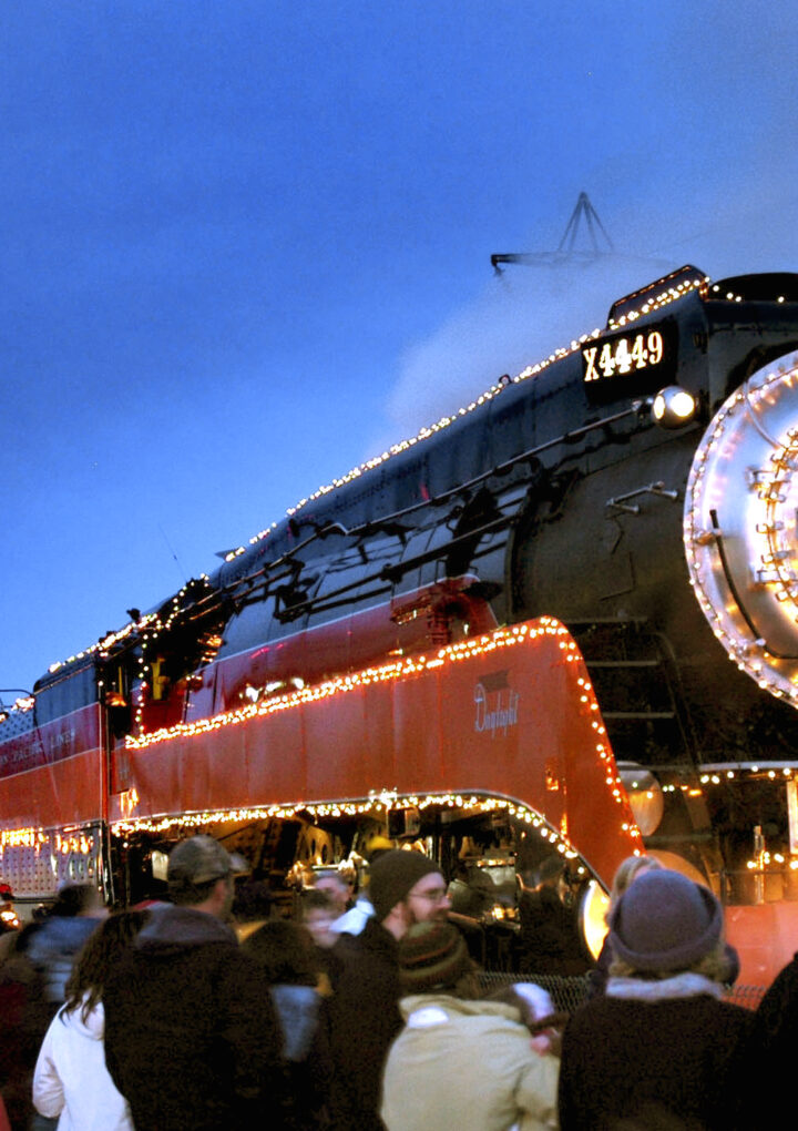
[[[609,920],[616,958],[634,970],[687,970],[720,941],[723,912],[712,892],[668,869],[643,872]]]

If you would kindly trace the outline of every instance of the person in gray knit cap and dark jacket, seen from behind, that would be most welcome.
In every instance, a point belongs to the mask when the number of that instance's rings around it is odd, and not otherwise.
[[[606,996],[563,1035],[561,1128],[736,1126],[730,1074],[752,1015],[721,1000],[720,904],[679,872],[650,870],[618,900],[609,932]]]

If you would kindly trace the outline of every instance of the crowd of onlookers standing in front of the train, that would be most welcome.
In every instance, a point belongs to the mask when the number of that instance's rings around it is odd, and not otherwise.
[[[168,900],[109,915],[64,888],[0,948],[11,1131],[734,1131],[783,1121],[798,957],[756,1012],[712,892],[648,857],[618,871],[589,994],[486,995],[439,865],[375,851],[353,905],[335,870],[302,922],[231,910],[236,862],[194,836]],[[534,975],[534,970],[521,977]],[[766,1081],[766,1082],[765,1082]]]

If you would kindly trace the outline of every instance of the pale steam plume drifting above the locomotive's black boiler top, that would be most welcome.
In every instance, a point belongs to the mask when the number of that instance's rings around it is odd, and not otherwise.
[[[400,357],[387,403],[390,439],[415,433],[471,400],[502,373],[512,377],[604,327],[613,302],[685,264],[713,278],[796,270],[798,198],[790,189],[789,166],[784,162],[766,183],[752,171],[734,193],[715,188],[689,204],[675,193],[648,224],[615,217],[606,226],[623,250],[590,262],[574,258],[557,266],[504,267],[501,277]],[[518,250],[534,247],[530,239]],[[486,264],[486,276],[489,270]]]

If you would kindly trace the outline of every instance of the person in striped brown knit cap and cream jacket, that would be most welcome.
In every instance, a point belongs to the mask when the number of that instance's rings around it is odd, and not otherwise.
[[[558,1061],[532,1048],[518,999],[479,1000],[457,927],[435,920],[411,926],[399,942],[399,967],[409,996],[400,1003],[407,1025],[385,1064],[388,1131],[556,1128]],[[534,990],[543,1019],[553,1007],[545,991]]]

